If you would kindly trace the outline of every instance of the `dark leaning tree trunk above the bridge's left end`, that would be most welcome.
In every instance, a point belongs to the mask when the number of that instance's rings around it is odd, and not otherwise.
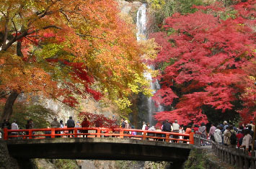
[[[16,101],[18,96],[19,93],[17,91],[12,91],[12,93],[5,102],[4,113],[1,116],[0,122],[3,122],[4,119],[10,119],[10,117],[12,116],[12,106],[14,105],[14,102]]]

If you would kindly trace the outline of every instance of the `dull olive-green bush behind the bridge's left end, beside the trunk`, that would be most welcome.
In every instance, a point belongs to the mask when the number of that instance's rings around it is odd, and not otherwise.
[[[32,119],[35,125],[35,128],[46,128],[50,125],[48,120],[52,120],[56,113],[50,109],[46,109],[40,105],[24,105],[24,104],[15,104],[13,107],[14,113],[10,119],[12,122],[14,119],[17,119],[17,124],[19,128],[25,129],[27,120]]]

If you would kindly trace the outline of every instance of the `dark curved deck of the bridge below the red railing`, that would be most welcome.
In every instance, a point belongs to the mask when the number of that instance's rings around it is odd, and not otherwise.
[[[122,138],[55,138],[6,140],[9,154],[18,158],[88,160],[185,161],[192,145]]]

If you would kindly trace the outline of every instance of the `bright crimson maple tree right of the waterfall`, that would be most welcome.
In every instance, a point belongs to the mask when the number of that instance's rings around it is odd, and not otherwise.
[[[151,35],[162,46],[155,61],[162,88],[154,99],[169,107],[156,113],[158,121],[208,122],[208,109],[237,112],[252,106],[241,107],[246,90],[241,77],[255,60],[253,6],[255,1],[195,6],[198,12],[173,14],[165,19],[164,32]]]

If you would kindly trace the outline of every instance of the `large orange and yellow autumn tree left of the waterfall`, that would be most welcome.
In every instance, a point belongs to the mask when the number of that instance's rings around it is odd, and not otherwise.
[[[127,104],[146,92],[146,66],[133,26],[113,0],[1,1],[1,119],[9,119],[19,93],[35,93],[75,106],[89,95]]]

